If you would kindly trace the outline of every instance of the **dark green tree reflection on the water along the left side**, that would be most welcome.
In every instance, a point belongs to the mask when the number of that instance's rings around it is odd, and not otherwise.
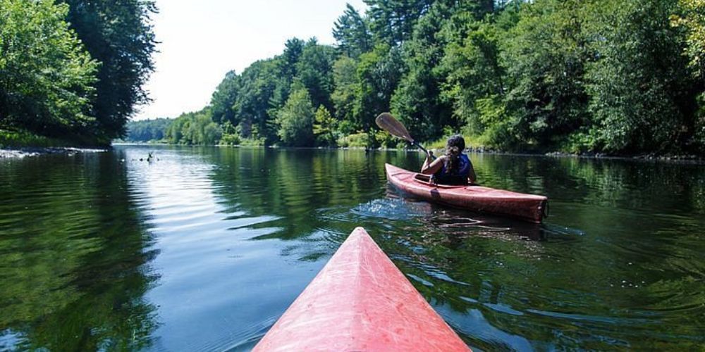
[[[0,165],[0,350],[135,350],[159,251],[111,153]]]

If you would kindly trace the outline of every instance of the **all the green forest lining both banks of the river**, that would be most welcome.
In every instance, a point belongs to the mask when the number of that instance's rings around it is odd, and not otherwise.
[[[336,20],[334,45],[289,39],[226,74],[202,110],[139,129],[174,144],[400,146],[374,125],[391,111],[431,145],[462,133],[503,151],[705,153],[705,0],[364,2]],[[148,101],[154,4],[0,4],[0,130],[123,136]],[[127,140],[144,138],[135,126]]]

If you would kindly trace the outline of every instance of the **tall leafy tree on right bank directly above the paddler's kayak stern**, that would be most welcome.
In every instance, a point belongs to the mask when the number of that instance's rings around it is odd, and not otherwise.
[[[587,125],[585,1],[541,0],[523,8],[502,53],[505,101],[520,146],[552,146]]]

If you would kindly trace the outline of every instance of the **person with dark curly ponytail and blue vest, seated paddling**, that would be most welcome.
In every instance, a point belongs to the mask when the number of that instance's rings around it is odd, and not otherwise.
[[[448,138],[446,153],[433,160],[433,153],[429,151],[426,161],[421,168],[424,175],[433,175],[432,179],[438,184],[468,184],[476,180],[475,170],[465,149],[465,139],[460,134]]]

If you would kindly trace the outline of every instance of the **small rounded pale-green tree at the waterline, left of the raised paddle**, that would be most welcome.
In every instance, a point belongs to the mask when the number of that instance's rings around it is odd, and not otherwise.
[[[277,134],[286,145],[312,146],[314,110],[311,97],[302,84],[293,86],[289,99],[276,116]]]

